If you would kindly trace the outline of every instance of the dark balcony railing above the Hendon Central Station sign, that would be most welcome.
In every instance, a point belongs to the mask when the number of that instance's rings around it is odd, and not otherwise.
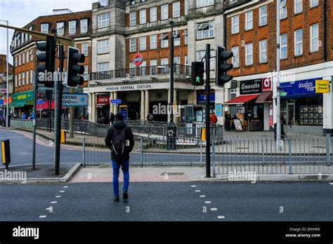
[[[164,67],[164,68],[162,68]],[[91,81],[115,79],[115,78],[131,78],[135,76],[148,76],[158,74],[169,74],[170,65],[138,67],[131,69],[115,69],[105,72],[93,72],[90,74]],[[174,65],[175,74],[191,75],[191,67],[188,65]]]

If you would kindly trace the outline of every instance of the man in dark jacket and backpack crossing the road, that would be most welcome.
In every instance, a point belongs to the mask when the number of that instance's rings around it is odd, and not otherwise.
[[[123,199],[129,199],[129,153],[134,147],[134,138],[131,128],[124,123],[122,114],[115,115],[115,123],[107,131],[105,144],[111,150],[113,168],[113,201],[119,202],[119,169],[122,166],[124,173]]]

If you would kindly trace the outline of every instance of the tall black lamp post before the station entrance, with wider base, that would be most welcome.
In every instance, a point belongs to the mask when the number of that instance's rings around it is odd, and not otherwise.
[[[167,131],[167,149],[176,150],[176,124],[174,123],[174,21],[171,26],[171,48],[170,48],[170,122]]]

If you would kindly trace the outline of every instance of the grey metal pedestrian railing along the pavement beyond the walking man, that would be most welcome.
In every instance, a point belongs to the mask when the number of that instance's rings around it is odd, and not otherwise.
[[[195,137],[177,137],[176,150],[167,149],[166,138],[136,136],[131,152],[133,165],[203,166],[206,143]],[[273,136],[233,138],[211,142],[213,172],[230,175],[255,172],[256,175],[333,174],[332,137],[289,137],[276,147]],[[110,164],[110,149],[103,138],[85,138],[84,165]]]

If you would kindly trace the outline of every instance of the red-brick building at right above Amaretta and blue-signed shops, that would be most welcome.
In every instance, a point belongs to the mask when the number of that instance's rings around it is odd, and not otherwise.
[[[233,4],[224,14],[235,81],[226,84],[224,103],[249,129],[269,130],[276,118],[276,3]],[[287,0],[280,10],[281,113],[291,133],[333,128],[331,93],[315,91],[316,80],[332,80],[331,12],[325,0]]]

